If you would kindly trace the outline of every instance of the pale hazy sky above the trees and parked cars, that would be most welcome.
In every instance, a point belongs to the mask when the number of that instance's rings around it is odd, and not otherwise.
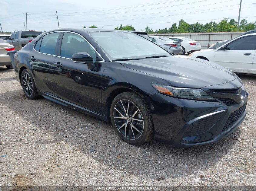
[[[240,0],[0,0],[0,23],[3,31],[48,31],[58,28],[82,28],[97,25],[114,29],[132,25],[136,31],[149,26],[154,31],[170,28],[183,18],[188,23],[219,22],[222,18],[238,20]],[[241,19],[256,21],[256,1],[242,0]]]

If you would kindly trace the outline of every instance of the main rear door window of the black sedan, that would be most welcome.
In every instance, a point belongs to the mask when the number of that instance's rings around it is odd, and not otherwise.
[[[55,55],[55,49],[56,49],[59,33],[60,32],[50,33],[43,36],[39,52]]]

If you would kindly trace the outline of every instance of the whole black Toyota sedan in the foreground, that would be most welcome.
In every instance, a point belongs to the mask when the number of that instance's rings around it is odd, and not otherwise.
[[[29,99],[43,96],[111,120],[133,145],[154,137],[178,147],[217,142],[246,115],[248,93],[233,72],[174,57],[128,31],[43,33],[15,53],[14,71]]]

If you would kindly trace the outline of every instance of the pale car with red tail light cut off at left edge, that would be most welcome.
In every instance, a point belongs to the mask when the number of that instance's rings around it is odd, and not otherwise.
[[[12,69],[12,63],[7,51],[14,50],[14,47],[0,38],[0,66]]]

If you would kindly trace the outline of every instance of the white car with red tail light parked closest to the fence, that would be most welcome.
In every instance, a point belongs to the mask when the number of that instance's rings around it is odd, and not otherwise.
[[[185,37],[170,37],[169,39],[177,42],[181,42],[182,55],[184,55],[185,53],[190,54],[195,51],[201,50],[200,43],[195,40],[185,38]]]

